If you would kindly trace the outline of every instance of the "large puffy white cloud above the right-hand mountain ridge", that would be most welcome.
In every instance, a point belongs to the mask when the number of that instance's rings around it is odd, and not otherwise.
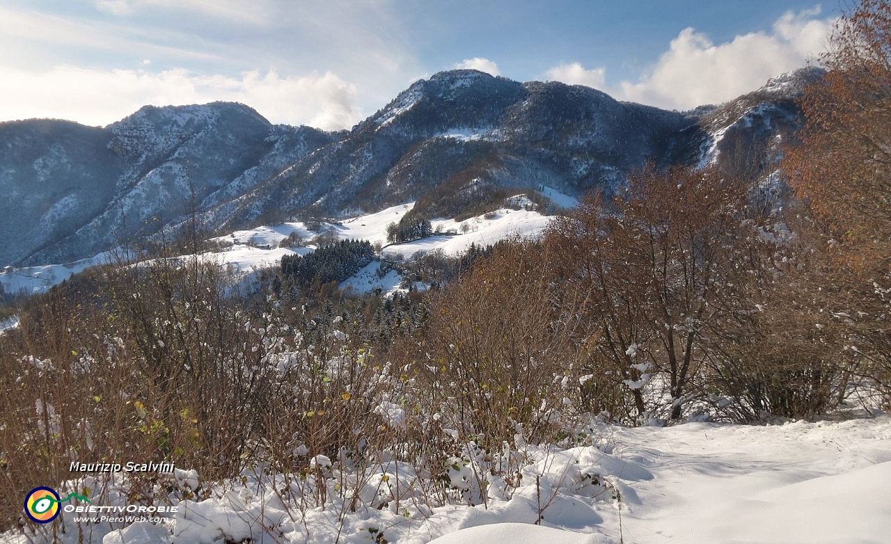
[[[694,28],[685,28],[636,82],[608,85],[605,69],[585,69],[577,62],[554,67],[547,76],[593,86],[620,100],[667,109],[687,110],[728,101],[816,58],[834,22],[818,19],[819,15],[819,8],[786,12],[769,31],[737,36],[723,44],[713,43]]]

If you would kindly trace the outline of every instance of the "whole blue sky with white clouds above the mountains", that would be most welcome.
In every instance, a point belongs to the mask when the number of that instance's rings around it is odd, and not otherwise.
[[[0,0],[0,121],[240,101],[337,130],[456,68],[687,110],[814,63],[839,15],[813,0]]]

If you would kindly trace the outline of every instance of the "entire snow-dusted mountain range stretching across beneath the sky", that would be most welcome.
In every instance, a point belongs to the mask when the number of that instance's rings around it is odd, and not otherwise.
[[[409,201],[430,218],[470,216],[544,187],[609,192],[646,161],[732,165],[740,149],[764,150],[794,131],[794,99],[813,77],[803,70],[679,113],[580,85],[452,70],[336,134],[272,125],[225,102],[146,106],[104,128],[2,123],[0,265],[91,257],[175,229],[192,209],[219,231]]]

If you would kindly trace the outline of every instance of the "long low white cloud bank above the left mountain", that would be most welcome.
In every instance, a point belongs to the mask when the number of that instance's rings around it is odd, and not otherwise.
[[[353,126],[360,118],[356,86],[337,75],[282,77],[274,70],[241,77],[198,75],[184,69],[94,70],[57,67],[45,72],[0,70],[0,118],[63,118],[104,126],[145,104],[166,106],[240,101],[274,123]]]

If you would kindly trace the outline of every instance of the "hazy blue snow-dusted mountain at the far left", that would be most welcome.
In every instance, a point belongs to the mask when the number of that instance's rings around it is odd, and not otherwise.
[[[247,106],[146,106],[105,128],[0,124],[0,264],[94,256],[240,195],[335,139]]]

